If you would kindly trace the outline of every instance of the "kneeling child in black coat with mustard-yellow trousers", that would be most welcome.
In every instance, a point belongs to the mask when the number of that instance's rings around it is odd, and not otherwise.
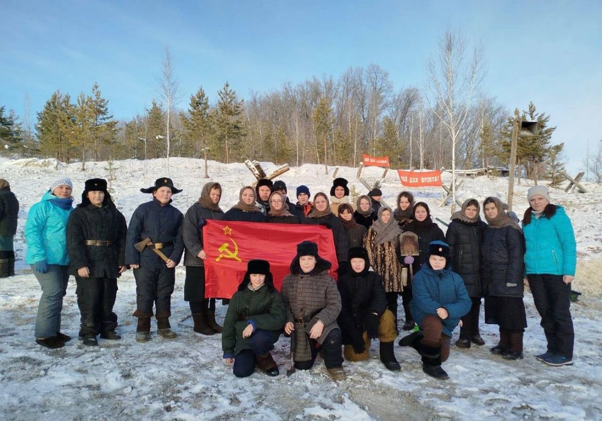
[[[380,360],[389,370],[400,370],[393,352],[393,341],[397,336],[395,316],[386,309],[382,278],[376,272],[368,271],[370,260],[364,247],[350,248],[347,261],[351,270],[337,282],[342,304],[337,323],[345,345],[345,359],[366,360],[370,340],[378,337]]]

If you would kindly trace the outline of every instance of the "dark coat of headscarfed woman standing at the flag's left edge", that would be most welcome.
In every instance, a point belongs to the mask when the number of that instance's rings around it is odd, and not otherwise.
[[[203,226],[207,220],[223,220],[226,215],[222,210],[211,210],[199,202],[194,203],[184,215],[182,239],[184,239],[184,266],[205,266],[203,259],[197,254],[203,250]]]

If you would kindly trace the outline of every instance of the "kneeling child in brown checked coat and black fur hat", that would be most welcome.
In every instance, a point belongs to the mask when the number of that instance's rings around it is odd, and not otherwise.
[[[341,295],[328,275],[330,262],[318,254],[315,242],[297,244],[291,273],[282,280],[282,300],[287,310],[284,331],[291,335],[294,366],[308,370],[323,349],[324,365],[334,380],[344,380],[341,330],[337,317]]]

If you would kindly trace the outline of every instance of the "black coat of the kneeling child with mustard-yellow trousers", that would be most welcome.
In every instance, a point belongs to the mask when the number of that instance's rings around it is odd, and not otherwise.
[[[377,313],[380,318],[386,310],[382,278],[376,272],[367,272],[359,277],[351,275],[345,274],[337,282],[341,294],[341,314],[337,323],[341,327],[343,343],[346,345],[352,343],[354,338],[362,336],[369,313]]]

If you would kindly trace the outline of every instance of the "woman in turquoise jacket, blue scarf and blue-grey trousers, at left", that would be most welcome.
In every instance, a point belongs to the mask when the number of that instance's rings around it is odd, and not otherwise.
[[[42,286],[36,318],[36,343],[46,348],[62,348],[71,338],[61,333],[63,297],[69,281],[67,220],[73,210],[71,180],[63,177],[52,183],[42,200],[31,206],[25,223],[27,253],[25,263]]]

